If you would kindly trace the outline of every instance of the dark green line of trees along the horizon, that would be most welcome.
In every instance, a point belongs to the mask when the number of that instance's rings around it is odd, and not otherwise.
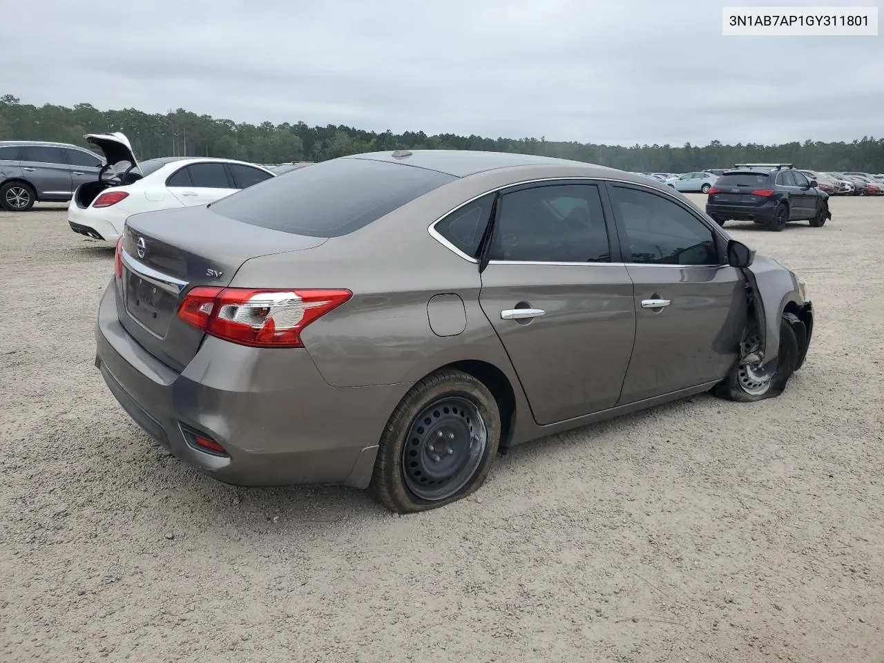
[[[21,103],[0,96],[0,140],[60,141],[88,147],[85,133],[121,131],[140,159],[155,156],[224,156],[257,164],[324,161],[360,152],[393,149],[484,149],[558,156],[625,171],[688,172],[727,168],[745,162],[791,163],[820,171],[884,171],[884,139],[863,136],[850,142],[804,141],[781,145],[712,141],[691,145],[598,145],[545,138],[483,138],[423,131],[384,133],[351,126],[237,123],[184,109],[146,113],[132,108],[98,110],[89,103],[72,108]]]

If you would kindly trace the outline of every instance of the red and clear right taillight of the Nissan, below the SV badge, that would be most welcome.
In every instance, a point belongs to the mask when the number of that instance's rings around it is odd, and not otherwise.
[[[195,287],[181,320],[219,339],[251,347],[303,347],[301,331],[353,296],[349,290]]]

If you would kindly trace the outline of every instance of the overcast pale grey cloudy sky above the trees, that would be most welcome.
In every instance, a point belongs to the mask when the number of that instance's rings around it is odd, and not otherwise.
[[[882,0],[36,0],[0,94],[627,145],[884,135],[884,36],[721,35],[722,6],[773,4]]]

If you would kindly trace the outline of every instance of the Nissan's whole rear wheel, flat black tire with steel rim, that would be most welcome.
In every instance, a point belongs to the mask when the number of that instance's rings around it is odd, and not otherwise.
[[[444,507],[484,484],[499,442],[500,411],[488,387],[461,370],[438,370],[393,410],[369,492],[397,514]]]

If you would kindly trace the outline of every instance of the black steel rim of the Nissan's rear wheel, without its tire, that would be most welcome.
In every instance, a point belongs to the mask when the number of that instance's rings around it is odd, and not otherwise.
[[[482,462],[488,429],[476,404],[450,397],[415,417],[402,448],[402,475],[416,497],[438,501],[465,486]]]

